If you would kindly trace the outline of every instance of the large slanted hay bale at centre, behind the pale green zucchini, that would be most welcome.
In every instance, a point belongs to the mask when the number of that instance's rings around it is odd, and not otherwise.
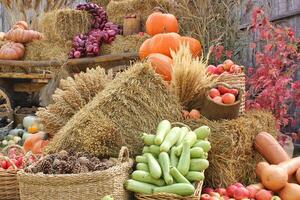
[[[54,136],[47,152],[86,151],[116,156],[121,145],[141,153],[141,132],[153,133],[162,119],[181,121],[181,106],[149,63],[119,73]]]

